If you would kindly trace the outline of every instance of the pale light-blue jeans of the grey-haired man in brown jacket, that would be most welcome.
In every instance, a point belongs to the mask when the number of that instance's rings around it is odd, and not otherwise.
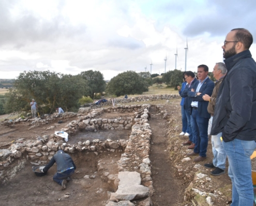
[[[218,133],[217,135],[212,135],[212,146],[214,155],[213,164],[214,166],[225,170],[227,154],[220,140],[221,135],[221,132]]]

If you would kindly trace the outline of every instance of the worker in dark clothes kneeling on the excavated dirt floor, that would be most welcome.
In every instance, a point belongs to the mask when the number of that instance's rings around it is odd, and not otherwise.
[[[57,173],[53,176],[53,180],[62,186],[62,190],[65,190],[67,179],[73,175],[77,167],[67,153],[63,150],[58,150],[50,162],[42,169],[43,173],[47,173],[48,169],[50,169],[55,162],[57,164]]]

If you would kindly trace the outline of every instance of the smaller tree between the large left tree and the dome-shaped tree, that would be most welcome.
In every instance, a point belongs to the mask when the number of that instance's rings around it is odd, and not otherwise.
[[[101,72],[89,70],[86,72],[81,72],[80,75],[88,83],[88,90],[86,96],[90,96],[92,99],[95,96],[95,93],[102,93],[106,89],[106,82]]]

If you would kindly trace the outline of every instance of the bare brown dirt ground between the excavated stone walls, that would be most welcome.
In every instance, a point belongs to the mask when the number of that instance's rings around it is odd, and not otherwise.
[[[152,128],[152,140],[150,149],[150,160],[152,161],[152,178],[155,193],[152,196],[154,205],[170,206],[170,205],[183,205],[185,188],[189,185],[189,181],[184,181],[176,174],[174,158],[170,159],[170,141],[168,134],[172,134],[179,142],[179,149],[186,149],[181,146],[181,143],[187,141],[182,136],[178,136],[181,132],[181,115],[179,100],[174,100],[170,104],[162,105],[165,112],[171,114],[173,124],[168,124],[169,119],[163,119],[163,115],[159,114],[152,107],[150,109],[151,119],[149,120],[150,127]],[[105,113],[99,118],[118,118],[118,117],[132,117],[130,113]],[[0,116],[1,118],[1,116]],[[59,119],[47,125],[40,125],[40,127],[28,130],[30,127],[28,123],[19,123],[14,127],[0,126],[0,149],[7,148],[11,141],[19,138],[25,140],[35,140],[37,136],[44,134],[53,134],[54,131],[65,127],[66,124],[75,118],[65,120],[63,124],[57,124]],[[46,128],[55,125],[54,130],[46,130]],[[117,132],[117,133],[114,133]],[[118,133],[119,132],[119,133]],[[104,136],[104,139],[128,139],[130,131],[128,130],[114,130],[114,131],[99,131],[92,132],[98,139]],[[80,135],[80,136],[79,136]],[[81,136],[82,135],[82,136]],[[84,138],[90,138],[90,134],[79,133],[77,138],[69,137],[70,143],[81,141]],[[81,140],[79,138],[82,138]],[[209,140],[207,149],[207,161],[212,160],[212,147]],[[78,153],[72,155],[74,162],[77,165],[76,173],[72,176],[72,180],[68,182],[65,191],[61,190],[61,186],[52,180],[56,168],[52,167],[48,171],[48,175],[37,177],[32,171],[32,165],[29,161],[26,162],[25,168],[20,173],[6,182],[5,185],[0,185],[0,205],[92,205],[101,206],[106,205],[108,200],[107,192],[111,191],[108,184],[103,182],[97,172],[98,161],[104,162],[106,171],[110,174],[117,174],[116,162],[120,160],[121,153],[103,152],[96,156],[94,153]],[[194,163],[188,163],[188,167],[192,167]],[[205,173],[209,173],[210,169],[204,168]],[[214,177],[215,182],[212,190],[223,188],[225,185],[230,185],[228,171],[221,176]],[[96,175],[95,179],[85,179],[85,175]],[[213,178],[213,177],[211,177]],[[227,188],[230,193],[230,189]],[[69,194],[69,195],[66,195]],[[66,195],[66,197],[65,197]],[[67,197],[68,196],[68,197]],[[214,205],[226,205],[227,200],[219,200],[219,203]],[[136,205],[136,202],[134,202]],[[192,204],[187,204],[192,205]]]

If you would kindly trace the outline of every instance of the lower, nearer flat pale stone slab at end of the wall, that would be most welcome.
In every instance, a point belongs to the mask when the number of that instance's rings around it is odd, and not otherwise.
[[[133,200],[148,197],[149,189],[143,185],[132,185],[132,186],[120,186],[118,185],[118,190],[111,194],[111,198],[118,200]]]

